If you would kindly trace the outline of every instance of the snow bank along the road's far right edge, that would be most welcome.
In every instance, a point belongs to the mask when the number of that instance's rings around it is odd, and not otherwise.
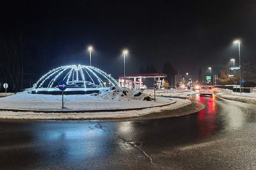
[[[216,89],[217,95],[228,100],[244,102],[248,104],[256,104],[256,93],[237,93],[230,89]]]

